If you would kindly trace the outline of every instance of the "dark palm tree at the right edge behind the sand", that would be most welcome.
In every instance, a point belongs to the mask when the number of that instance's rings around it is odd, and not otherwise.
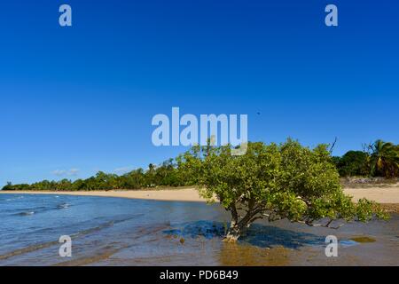
[[[399,146],[382,140],[375,141],[370,157],[372,175],[397,177],[399,175]]]

